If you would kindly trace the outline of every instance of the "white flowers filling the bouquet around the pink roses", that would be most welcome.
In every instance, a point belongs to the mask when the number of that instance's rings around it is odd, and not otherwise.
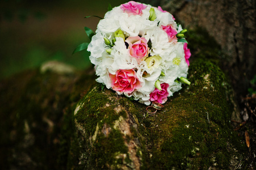
[[[181,76],[186,78],[188,71],[184,58],[184,43],[169,42],[167,33],[161,28],[161,25],[172,25],[171,27],[180,32],[183,30],[182,26],[177,25],[169,12],[162,12],[156,7],[153,7],[156,18],[153,21],[149,20],[150,8],[152,6],[146,5],[138,15],[129,13],[132,8],[127,10],[128,12],[122,10],[120,6],[112,8],[105,14],[104,19],[99,21],[96,35],[93,36],[87,48],[91,52],[90,61],[95,65],[96,75],[99,76],[96,79],[97,82],[112,88],[111,79],[116,71],[132,70],[135,73],[132,75],[133,78],[139,81],[139,85],[136,85],[138,88],[129,93],[125,90],[116,92],[119,95],[133,96],[135,100],[146,105],[150,104],[150,94],[156,88],[156,81],[169,84],[167,88],[169,97],[181,90],[182,83],[175,80]],[[119,36],[115,35],[116,31],[119,31]],[[132,45],[137,45],[136,48],[139,49],[142,43],[146,43],[149,48],[145,58],[139,60],[129,55],[129,44],[126,41],[129,37],[138,36],[144,38],[144,41],[140,42],[141,44],[135,42]],[[104,39],[109,40],[107,45]],[[142,52],[144,53],[144,50],[137,50],[135,56],[140,56]]]

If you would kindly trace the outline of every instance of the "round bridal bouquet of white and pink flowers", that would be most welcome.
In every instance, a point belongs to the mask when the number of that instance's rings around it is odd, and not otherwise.
[[[186,31],[161,7],[130,1],[112,8],[87,47],[96,81],[146,105],[165,103],[190,84]]]

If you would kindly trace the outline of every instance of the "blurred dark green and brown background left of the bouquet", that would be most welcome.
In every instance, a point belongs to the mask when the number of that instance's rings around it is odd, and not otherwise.
[[[108,4],[124,0],[0,0],[0,79],[50,60],[85,69],[90,66],[86,51],[72,55],[82,42],[89,42],[84,27],[96,30]]]

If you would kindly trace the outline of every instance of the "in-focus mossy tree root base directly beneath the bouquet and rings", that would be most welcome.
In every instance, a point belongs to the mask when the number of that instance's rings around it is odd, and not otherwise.
[[[245,143],[230,126],[232,91],[223,72],[195,59],[184,86],[156,116],[97,84],[74,111],[70,169],[233,169]]]

